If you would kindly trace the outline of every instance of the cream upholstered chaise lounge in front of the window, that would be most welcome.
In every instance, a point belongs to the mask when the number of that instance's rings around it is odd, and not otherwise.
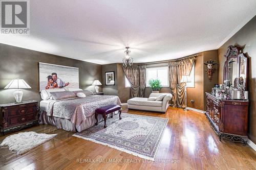
[[[151,93],[151,97],[158,97],[162,94],[166,94],[162,101],[148,101],[148,98],[132,98],[127,101],[128,109],[134,110],[146,110],[154,112],[165,113],[168,106],[169,100],[172,99],[172,94],[170,93]]]

